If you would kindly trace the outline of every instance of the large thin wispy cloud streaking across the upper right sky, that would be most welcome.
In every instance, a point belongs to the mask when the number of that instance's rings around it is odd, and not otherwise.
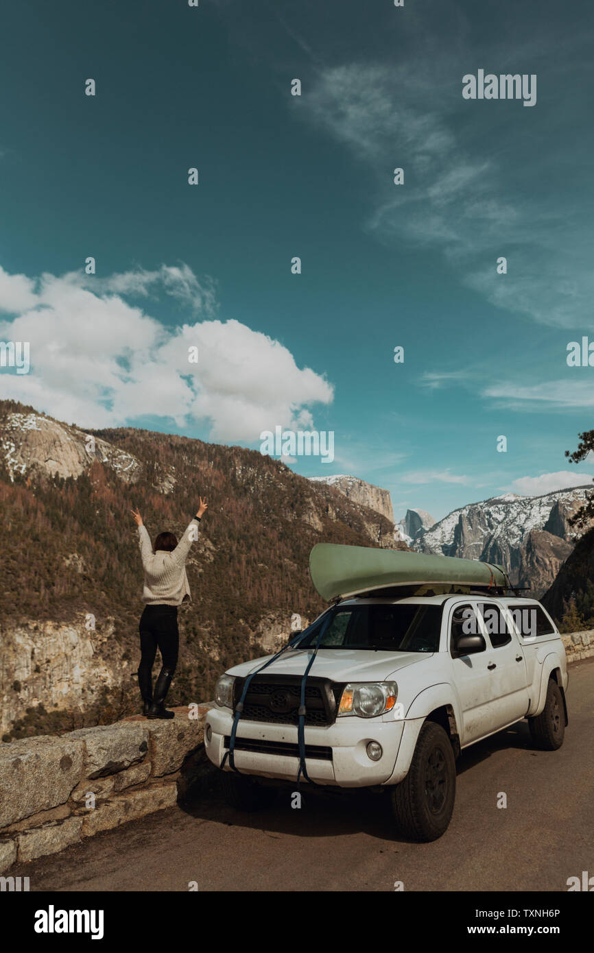
[[[469,53],[468,62],[475,59]],[[506,51],[504,62],[511,59]],[[298,108],[373,176],[375,207],[364,223],[370,233],[440,249],[461,283],[499,308],[578,327],[594,296],[591,209],[584,196],[565,205],[555,194],[544,200],[522,176],[510,187],[509,164],[493,149],[493,135],[485,142],[467,133],[468,104],[453,94],[457,64],[446,55],[416,54],[414,63],[324,68]],[[546,64],[554,70],[548,56]],[[554,151],[543,150],[532,165],[534,186],[556,174]],[[392,186],[395,166],[405,169],[404,186]],[[508,259],[503,275],[496,271],[501,255]]]

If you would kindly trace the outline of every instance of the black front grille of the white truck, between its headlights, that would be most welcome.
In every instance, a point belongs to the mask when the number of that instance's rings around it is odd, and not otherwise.
[[[234,710],[241,698],[244,683],[245,679],[235,681]],[[308,678],[305,687],[305,724],[334,724],[343,687],[330,679]],[[297,725],[300,690],[300,676],[256,675],[248,687],[241,718]]]

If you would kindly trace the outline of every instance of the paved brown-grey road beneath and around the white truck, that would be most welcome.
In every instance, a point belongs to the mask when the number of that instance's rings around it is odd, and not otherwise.
[[[594,660],[570,666],[563,748],[533,751],[527,724],[458,762],[454,817],[440,841],[402,841],[383,797],[287,795],[246,815],[206,800],[161,811],[10,873],[31,890],[566,891],[594,873]],[[499,792],[507,807],[497,807]],[[387,800],[387,799],[386,799]]]

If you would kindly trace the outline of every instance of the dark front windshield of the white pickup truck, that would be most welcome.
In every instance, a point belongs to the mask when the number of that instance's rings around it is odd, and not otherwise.
[[[438,652],[441,606],[414,603],[350,605],[329,610],[333,614],[320,648],[369,649],[375,652]],[[297,648],[314,647],[324,614],[306,629]]]

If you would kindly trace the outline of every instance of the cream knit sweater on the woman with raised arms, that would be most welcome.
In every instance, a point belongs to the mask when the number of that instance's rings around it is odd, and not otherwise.
[[[192,519],[175,549],[153,552],[153,543],[143,524],[138,527],[138,544],[144,569],[142,601],[147,605],[180,605],[190,601],[190,586],[186,575],[186,559],[192,543],[198,536],[199,522]]]

